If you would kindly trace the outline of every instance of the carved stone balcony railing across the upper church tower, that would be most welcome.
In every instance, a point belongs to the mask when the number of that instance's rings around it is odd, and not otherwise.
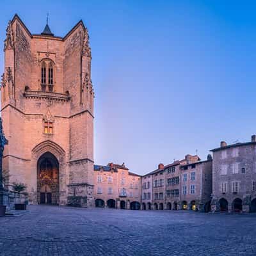
[[[28,90],[24,92],[24,97],[34,98],[34,99],[51,99],[51,100],[60,100],[60,101],[70,100],[70,95],[63,94],[63,93],[28,91]]]

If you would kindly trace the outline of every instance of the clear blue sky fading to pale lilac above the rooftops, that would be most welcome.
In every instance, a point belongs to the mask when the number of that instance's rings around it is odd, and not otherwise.
[[[88,27],[95,163],[147,173],[185,154],[256,134],[255,1],[6,1],[31,33]],[[0,51],[3,73],[3,51]]]

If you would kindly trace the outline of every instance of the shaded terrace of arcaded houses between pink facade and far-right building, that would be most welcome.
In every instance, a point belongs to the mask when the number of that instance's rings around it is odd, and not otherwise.
[[[147,182],[151,180],[151,187]],[[152,188],[152,189],[150,189]],[[147,193],[151,193],[150,198]],[[198,156],[164,166],[141,177],[141,209],[209,211],[212,193],[212,159]]]

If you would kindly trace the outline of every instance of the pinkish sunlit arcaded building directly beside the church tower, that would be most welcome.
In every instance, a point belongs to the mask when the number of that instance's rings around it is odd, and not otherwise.
[[[94,184],[96,207],[141,209],[141,176],[125,164],[95,165]]]

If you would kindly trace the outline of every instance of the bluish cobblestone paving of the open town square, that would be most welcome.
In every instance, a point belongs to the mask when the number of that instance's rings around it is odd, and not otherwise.
[[[255,214],[30,205],[0,218],[0,255],[256,255]]]

